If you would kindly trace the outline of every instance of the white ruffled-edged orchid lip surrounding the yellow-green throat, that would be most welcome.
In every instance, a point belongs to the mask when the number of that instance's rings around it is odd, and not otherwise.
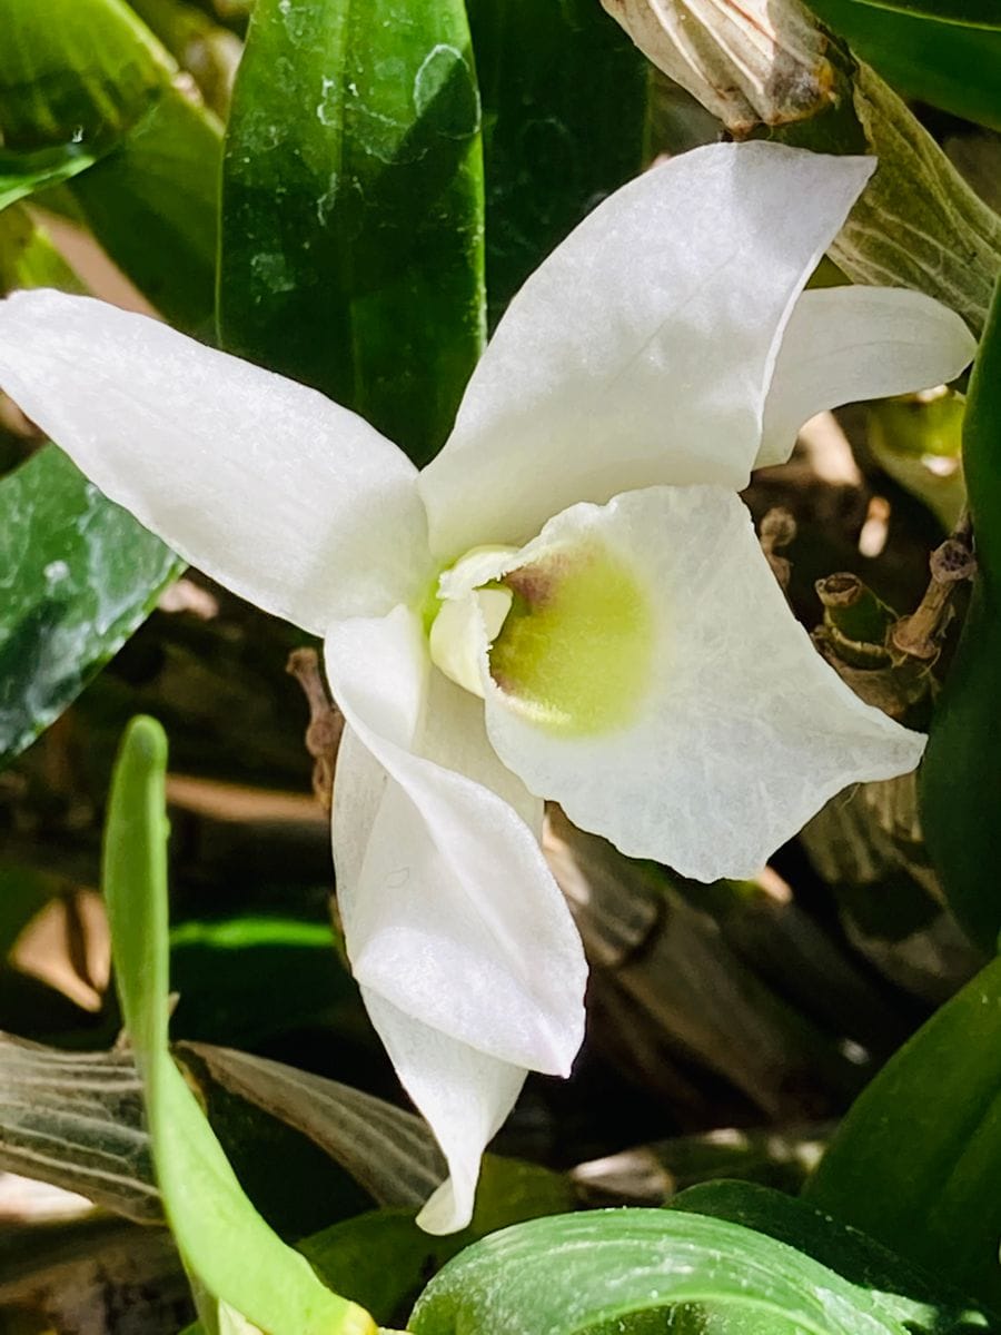
[[[487,729],[527,786],[623,853],[747,877],[846,785],[913,769],[925,738],[864,705],[795,622],[747,510],[722,487],[574,506],[518,558],[601,547],[651,613],[645,686],[615,726],[534,722],[486,672]],[[515,562],[509,562],[513,569]]]

